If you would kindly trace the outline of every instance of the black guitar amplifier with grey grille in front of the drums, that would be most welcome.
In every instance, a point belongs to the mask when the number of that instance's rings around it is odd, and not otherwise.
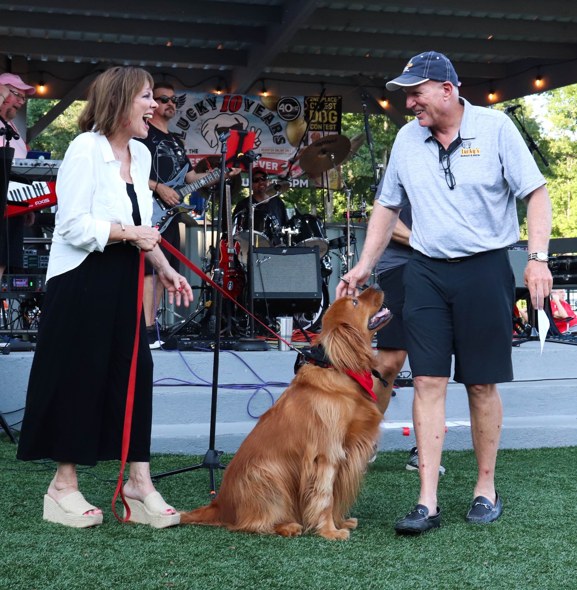
[[[252,257],[255,306],[292,316],[318,310],[322,299],[321,258],[314,248],[255,248]]]

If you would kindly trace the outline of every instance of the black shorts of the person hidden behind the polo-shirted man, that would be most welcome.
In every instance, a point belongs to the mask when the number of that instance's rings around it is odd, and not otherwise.
[[[379,274],[379,286],[384,291],[384,304],[392,312],[393,317],[386,326],[377,332],[377,348],[407,349],[405,327],[403,326],[403,305],[405,304],[404,270],[405,265],[402,264]]]

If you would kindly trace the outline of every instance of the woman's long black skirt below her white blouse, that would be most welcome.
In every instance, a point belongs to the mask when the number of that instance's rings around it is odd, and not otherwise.
[[[107,245],[48,281],[17,457],[120,459],[139,251]],[[152,356],[141,315],[129,461],[150,460]]]

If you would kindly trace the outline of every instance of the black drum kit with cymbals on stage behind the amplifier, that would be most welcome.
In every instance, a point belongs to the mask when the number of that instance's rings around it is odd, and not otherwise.
[[[311,143],[307,148],[302,150],[298,160],[298,165],[304,170],[309,177],[314,178],[322,175],[322,173],[329,171],[330,169],[337,170],[337,166],[340,166],[343,162],[347,162],[356,155],[358,149],[363,145],[365,136],[359,134],[354,136],[351,140],[343,135],[326,135],[317,139]],[[214,161],[211,159],[214,158]],[[196,172],[205,172],[209,169],[216,168],[220,165],[220,156],[211,156],[210,158],[201,160],[196,166]],[[240,193],[241,181],[240,175],[233,176],[227,181],[230,186],[230,194],[232,198]],[[344,185],[344,182],[343,182]],[[350,261],[353,256],[351,246],[356,243],[354,235],[351,235],[350,227],[350,195],[351,191],[347,186],[344,188],[345,194],[347,194],[347,225],[344,231],[344,235],[328,240],[325,232],[324,223],[321,218],[317,215],[304,214],[298,211],[295,207],[295,214],[288,219],[285,226],[282,226],[278,219],[269,215],[265,211],[258,208],[258,205],[263,204],[270,199],[286,194],[291,189],[291,183],[280,177],[278,180],[272,181],[266,188],[266,198],[259,202],[253,202],[252,208],[242,209],[237,212],[232,218],[232,234],[233,242],[237,242],[240,245],[240,264],[244,269],[245,273],[249,273],[249,247],[251,242],[252,234],[252,245],[254,248],[314,248],[318,247],[318,254],[321,259],[321,277],[324,279],[322,286],[322,300],[319,309],[315,309],[314,312],[307,312],[295,315],[294,318],[298,324],[304,328],[314,331],[320,327],[320,320],[324,311],[328,308],[329,294],[328,294],[328,277],[332,274],[332,262],[331,252],[335,255],[340,256],[341,266],[343,273],[347,272],[350,267]],[[200,189],[198,192],[201,193],[206,199],[206,205],[204,211],[212,203],[212,219],[215,219],[214,212],[214,196],[219,190],[218,185],[213,185],[207,188]],[[363,204],[364,205],[364,204]],[[363,209],[361,205],[361,209]],[[207,252],[214,248],[214,245],[207,248],[207,222],[206,215],[203,216],[204,221],[204,251]],[[226,219],[226,217],[224,218]],[[225,230],[226,231],[226,230]],[[206,273],[211,271],[210,258],[203,258],[204,268]],[[239,301],[243,304],[247,303],[250,299],[249,281],[246,281],[246,286],[243,288],[243,293],[239,296]],[[246,292],[245,292],[246,291]],[[206,291],[208,293],[208,291]],[[210,307],[206,301],[203,301],[203,297],[200,298],[200,312],[203,309]],[[250,309],[250,308],[249,308]],[[197,313],[198,313],[197,312]],[[194,316],[194,313],[190,317],[190,320]],[[248,319],[245,317],[245,313],[236,314],[234,310],[229,309],[229,317],[223,317],[223,321],[226,320],[227,332],[232,336],[246,336],[248,332]],[[292,312],[288,313],[289,315]],[[260,311],[262,316],[262,311]],[[275,318],[263,318],[268,320],[268,324],[273,326]],[[194,332],[193,324],[197,325],[197,322],[185,322],[189,324],[188,333]],[[265,322],[266,323],[266,322]],[[182,333],[179,330],[179,333]]]

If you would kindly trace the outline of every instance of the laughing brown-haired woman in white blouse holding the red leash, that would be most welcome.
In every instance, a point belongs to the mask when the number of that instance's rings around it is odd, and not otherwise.
[[[193,299],[150,227],[151,156],[146,137],[157,103],[152,77],[113,67],[89,90],[58,179],[58,211],[47,290],[18,458],[51,458],[58,467],[44,496],[44,519],[74,527],[102,523],[102,510],[78,489],[76,465],[120,459],[126,392],[136,333],[139,251],[157,270],[169,301]],[[157,528],[180,522],[150,477],[152,356],[141,315],[129,478],[131,520]]]

